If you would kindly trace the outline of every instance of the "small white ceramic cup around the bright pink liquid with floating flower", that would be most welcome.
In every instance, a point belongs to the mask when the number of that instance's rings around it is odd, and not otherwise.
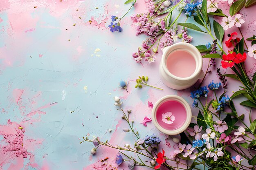
[[[164,102],[167,102],[169,100],[179,102],[180,104],[182,104],[182,106],[186,110],[186,119],[185,119],[184,123],[182,124],[182,126],[180,126],[180,128],[177,128],[175,130],[167,130],[167,129],[163,128],[162,126],[160,126],[159,123],[157,122],[157,115],[156,115],[157,109],[159,108],[159,106],[161,104],[163,104]],[[190,108],[188,102],[186,102],[185,99],[183,99],[182,97],[177,96],[177,95],[166,95],[166,96],[162,97],[161,99],[159,99],[156,102],[156,104],[154,105],[153,110],[152,110],[153,124],[159,131],[161,131],[167,135],[177,135],[177,134],[180,134],[181,132],[184,132],[186,130],[186,128],[189,127],[189,124],[191,122],[191,117],[192,117],[192,112],[191,112],[191,108]]]

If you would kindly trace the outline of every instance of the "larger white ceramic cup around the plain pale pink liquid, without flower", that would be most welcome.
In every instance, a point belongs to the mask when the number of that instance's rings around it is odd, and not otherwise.
[[[166,60],[168,55],[174,51],[186,51],[194,57],[196,68],[195,72],[191,76],[177,77],[168,71],[168,68],[166,66]],[[195,84],[198,79],[204,77],[204,72],[202,71],[202,64],[202,55],[195,46],[186,42],[178,42],[163,49],[163,55],[159,66],[159,74],[166,86],[176,90],[182,90],[193,86],[193,84]]]

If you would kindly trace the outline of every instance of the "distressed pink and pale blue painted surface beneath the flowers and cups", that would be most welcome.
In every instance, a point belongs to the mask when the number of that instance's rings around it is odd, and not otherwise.
[[[220,6],[228,13],[223,4]],[[121,21],[122,33],[107,29],[110,15],[120,17],[129,7],[124,6],[124,0],[0,1],[0,170],[101,170],[98,161],[105,157],[114,166],[117,150],[102,147],[91,156],[92,144],[79,144],[87,134],[99,136],[102,141],[108,139],[113,145],[134,143],[131,133],[122,132],[127,125],[113,105],[113,96],[120,96],[124,108],[132,109],[131,118],[141,137],[159,135],[169,155],[175,144],[170,139],[165,141],[166,136],[152,122],[147,127],[139,122],[145,116],[151,117],[148,101],[155,104],[164,95],[179,95],[192,103],[189,93],[193,87],[175,91],[161,82],[158,65],[162,52],[151,65],[133,61],[131,53],[146,37],[135,35],[129,15],[145,11],[142,0]],[[245,38],[255,33],[253,8],[241,11]],[[183,16],[179,22],[185,20]],[[232,28],[225,35],[233,31],[238,30]],[[201,33],[189,30],[189,34],[193,36],[193,45],[212,41]],[[204,60],[204,70],[207,64]],[[253,58],[245,64],[249,74],[255,72]],[[212,79],[218,81],[215,68],[211,70],[205,84]],[[148,75],[148,83],[164,91],[135,89],[138,75]],[[121,79],[129,81],[129,93],[118,88]],[[229,80],[228,85],[228,95],[238,90],[238,82]],[[248,108],[237,105],[238,102],[235,101],[239,114],[245,113],[248,122]],[[193,115],[197,113],[193,109]],[[19,125],[25,129],[21,142],[29,154],[27,158],[16,157],[13,151],[4,153],[2,149],[13,142],[13,138],[8,138],[8,142],[4,137],[17,134],[15,128]]]

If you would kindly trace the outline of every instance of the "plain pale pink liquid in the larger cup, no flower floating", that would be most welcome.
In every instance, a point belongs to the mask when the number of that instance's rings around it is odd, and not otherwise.
[[[186,51],[173,51],[166,60],[169,72],[177,77],[189,77],[195,72],[194,57]]]

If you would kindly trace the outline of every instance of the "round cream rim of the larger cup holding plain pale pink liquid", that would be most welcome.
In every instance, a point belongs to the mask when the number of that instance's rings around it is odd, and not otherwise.
[[[176,75],[173,75],[167,68],[166,66],[166,60],[167,60],[167,54],[169,53],[169,51],[171,49],[173,49],[173,51],[176,49],[182,49],[182,48],[177,48],[179,47],[180,45],[184,45],[184,48],[183,49],[191,49],[191,51],[188,51],[186,50],[186,52],[190,53],[193,58],[195,59],[195,63],[196,63],[196,68],[195,68],[195,71],[192,75],[190,75],[189,77],[177,77]],[[176,44],[173,44],[171,46],[167,46],[165,47],[167,48],[165,51],[163,50],[163,55],[162,55],[162,60],[161,60],[161,64],[162,64],[162,67],[164,69],[164,71],[166,72],[167,75],[169,75],[170,77],[173,77],[174,79],[177,79],[177,80],[190,80],[190,79],[194,79],[196,76],[198,76],[202,70],[202,55],[201,53],[198,51],[198,49],[193,46],[192,44],[189,44],[189,43],[186,43],[186,42],[178,42]],[[198,60],[197,58],[195,58],[196,56],[200,56],[200,58],[198,57]]]

